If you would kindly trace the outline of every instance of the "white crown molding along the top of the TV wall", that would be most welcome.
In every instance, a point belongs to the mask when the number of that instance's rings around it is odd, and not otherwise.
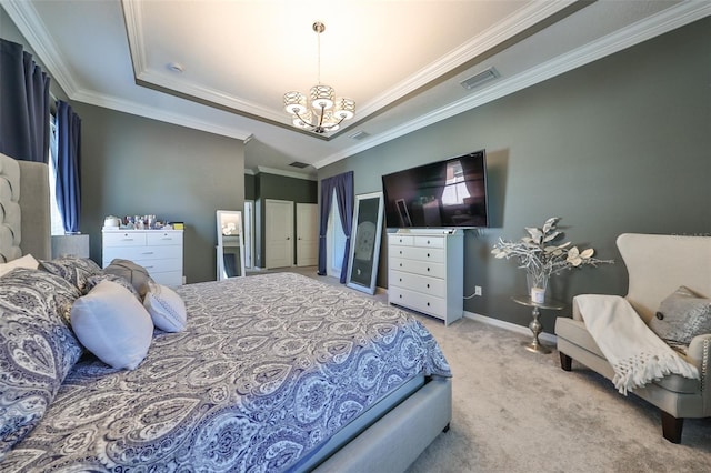
[[[688,1],[679,3],[675,7],[640,20],[624,30],[608,34],[571,52],[531,68],[525,72],[503,79],[480,93],[442,107],[431,113],[411,120],[401,127],[393,128],[387,133],[373,135],[367,141],[316,162],[313,167],[321,169],[359,152],[369,150],[370,148],[387,143],[388,141],[412,133],[430,124],[481,107],[709,16],[711,16],[711,2]]]

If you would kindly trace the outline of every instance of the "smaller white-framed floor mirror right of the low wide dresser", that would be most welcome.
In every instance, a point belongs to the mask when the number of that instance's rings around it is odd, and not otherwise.
[[[218,281],[247,275],[244,273],[244,239],[242,212],[218,210]]]

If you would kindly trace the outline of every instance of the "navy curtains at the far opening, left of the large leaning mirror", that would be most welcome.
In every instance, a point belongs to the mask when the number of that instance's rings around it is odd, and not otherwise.
[[[321,215],[319,221],[319,275],[326,275],[326,232],[328,230],[331,200],[336,190],[338,213],[341,217],[343,233],[346,234],[346,252],[341,266],[341,283],[346,283],[348,274],[348,256],[351,248],[351,228],[353,225],[353,171],[334,175],[321,181]]]

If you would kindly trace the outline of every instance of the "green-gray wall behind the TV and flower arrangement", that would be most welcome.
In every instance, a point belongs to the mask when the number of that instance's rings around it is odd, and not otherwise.
[[[553,278],[553,295],[570,303],[578,293],[623,294],[618,234],[711,232],[711,19],[320,169],[319,179],[353,170],[357,194],[379,191],[373,169],[479,149],[491,227],[465,234],[464,294],[481,285],[483,296],[464,310],[528,325],[530,310],[510,299],[525,292],[524,272],[490,250],[548,217],[562,218],[567,240],[618,260]],[[383,244],[379,286],[388,284],[387,256]],[[544,331],[555,315],[543,314]]]

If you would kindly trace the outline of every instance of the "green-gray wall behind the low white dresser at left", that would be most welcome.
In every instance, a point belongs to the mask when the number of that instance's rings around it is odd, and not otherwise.
[[[82,121],[81,231],[101,261],[104,215],[182,221],[187,281],[216,279],[217,210],[244,207],[242,141],[74,102]]]

